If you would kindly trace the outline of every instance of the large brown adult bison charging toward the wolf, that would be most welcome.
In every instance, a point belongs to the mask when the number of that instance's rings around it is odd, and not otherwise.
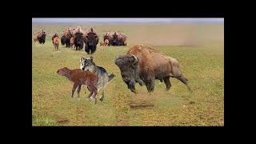
[[[166,90],[170,90],[170,77],[178,78],[190,90],[187,79],[182,75],[178,61],[175,58],[161,54],[150,46],[132,46],[126,55],[120,55],[115,59],[115,64],[121,71],[122,80],[134,93],[137,93],[134,87],[135,82],[138,82],[141,86],[146,84],[148,92],[152,92],[155,79],[159,79],[161,82],[163,80],[166,84]]]

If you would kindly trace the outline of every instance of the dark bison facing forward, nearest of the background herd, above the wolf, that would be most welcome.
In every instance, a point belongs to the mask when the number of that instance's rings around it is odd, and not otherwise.
[[[87,54],[94,54],[98,44],[98,35],[94,32],[90,32],[86,35],[86,47],[85,51]]]

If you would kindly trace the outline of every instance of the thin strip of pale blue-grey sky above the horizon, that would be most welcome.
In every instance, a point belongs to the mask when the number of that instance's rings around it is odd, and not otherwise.
[[[69,23],[69,22],[168,22],[168,23],[222,23],[224,18],[32,18],[32,23]]]

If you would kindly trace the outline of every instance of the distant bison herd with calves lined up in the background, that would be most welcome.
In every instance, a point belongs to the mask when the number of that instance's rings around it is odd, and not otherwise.
[[[39,43],[44,44],[46,41],[46,32],[40,30],[38,34],[33,36],[33,38],[34,42],[38,41]],[[109,31],[103,35],[103,41],[100,42],[100,46],[128,46],[126,39],[127,37],[125,34],[117,31]],[[52,36],[52,41],[54,44],[54,51],[58,50],[58,34]],[[99,36],[93,27],[90,27],[89,30],[83,30],[81,26],[78,26],[73,30],[68,27],[63,31],[62,37],[60,38],[62,46],[66,45],[66,47],[71,47],[74,50],[82,50],[84,47],[87,54],[94,54],[97,49],[98,41]]]

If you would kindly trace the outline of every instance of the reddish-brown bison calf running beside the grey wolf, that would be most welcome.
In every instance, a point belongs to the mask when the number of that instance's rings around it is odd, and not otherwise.
[[[71,82],[74,82],[74,86],[72,89],[72,95],[71,98],[74,98],[74,91],[78,87],[78,99],[80,99],[80,90],[82,85],[86,85],[88,87],[88,90],[90,90],[90,94],[87,98],[92,98],[94,100],[94,104],[96,104],[96,94],[98,94],[97,90],[97,83],[98,83],[98,76],[94,73],[91,73],[89,70],[80,70],[80,69],[74,69],[70,70],[67,67],[64,67],[62,69],[59,69],[57,71],[57,74],[60,74],[62,76],[65,76],[68,78]]]

